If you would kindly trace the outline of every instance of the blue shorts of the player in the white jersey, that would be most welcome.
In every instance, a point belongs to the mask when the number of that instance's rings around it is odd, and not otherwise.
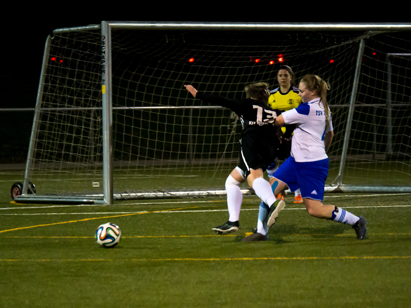
[[[290,156],[275,171],[274,178],[286,183],[291,191],[300,188],[303,198],[323,201],[328,167],[328,158],[315,162],[298,163]]]

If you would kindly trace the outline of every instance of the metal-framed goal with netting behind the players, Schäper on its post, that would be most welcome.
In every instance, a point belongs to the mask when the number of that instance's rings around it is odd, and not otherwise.
[[[283,64],[297,82],[317,74],[331,85],[326,191],[410,192],[410,30],[160,22],[54,30],[17,199],[113,204],[225,195],[240,121],[193,100],[183,85],[240,99],[252,82],[275,88]]]

